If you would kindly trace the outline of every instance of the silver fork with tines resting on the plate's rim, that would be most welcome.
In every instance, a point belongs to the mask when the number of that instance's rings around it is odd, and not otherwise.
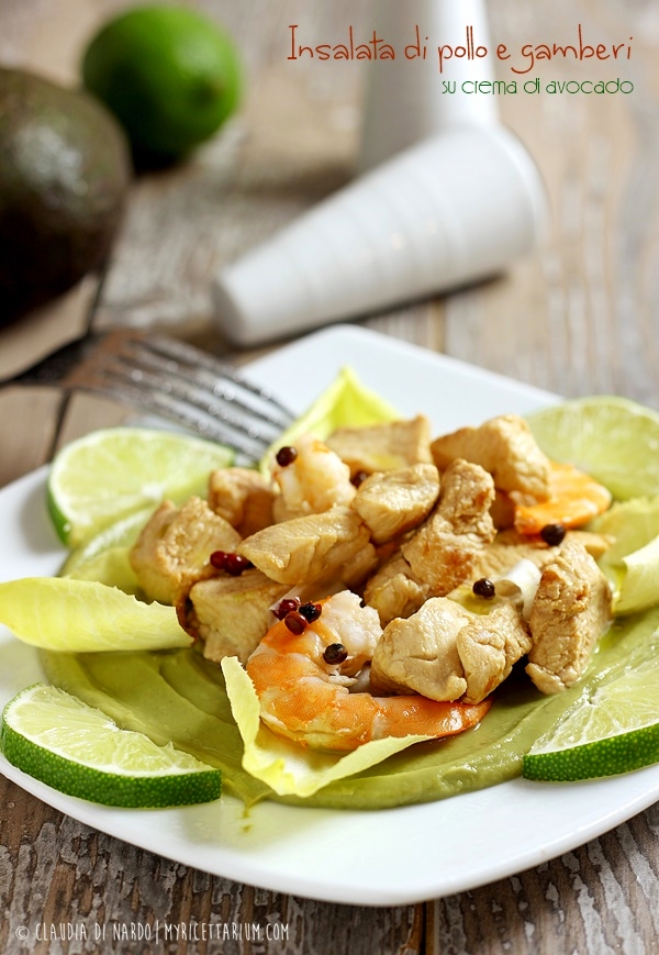
[[[116,330],[64,345],[7,385],[104,395],[258,460],[294,415],[232,365],[165,335]]]

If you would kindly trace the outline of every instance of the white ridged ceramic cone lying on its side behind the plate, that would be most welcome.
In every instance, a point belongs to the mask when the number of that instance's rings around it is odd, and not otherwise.
[[[545,192],[518,140],[457,125],[359,177],[228,266],[222,333],[264,341],[493,276],[528,252]]]

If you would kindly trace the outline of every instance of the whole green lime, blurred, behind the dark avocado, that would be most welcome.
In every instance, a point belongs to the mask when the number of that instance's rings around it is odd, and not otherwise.
[[[137,151],[178,158],[234,111],[241,65],[215,22],[188,8],[154,4],[101,29],[85,53],[82,80]]]

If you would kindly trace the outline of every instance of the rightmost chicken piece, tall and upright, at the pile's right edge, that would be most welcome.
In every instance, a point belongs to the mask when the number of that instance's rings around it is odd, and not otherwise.
[[[572,686],[611,620],[608,582],[582,544],[568,541],[543,570],[530,611],[526,673],[543,693]]]

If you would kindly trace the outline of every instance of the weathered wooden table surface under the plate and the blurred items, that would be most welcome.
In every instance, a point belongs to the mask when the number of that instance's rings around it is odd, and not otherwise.
[[[124,5],[2,0],[0,63],[70,81],[90,31]],[[1,331],[0,374],[90,325],[167,325],[212,351],[228,351],[212,329],[210,277],[350,178],[365,67],[293,68],[286,59],[288,24],[302,24],[314,45],[339,42],[347,24],[369,26],[366,0],[198,5],[223,21],[244,51],[249,84],[241,115],[187,165],[135,184],[103,275]],[[547,184],[552,227],[546,245],[495,281],[364,324],[567,396],[617,392],[659,408],[655,0],[491,0],[490,13],[495,41],[511,48],[572,43],[578,23],[595,42],[633,36],[624,63],[554,60],[538,71],[547,79],[621,76],[635,90],[500,97],[505,122]],[[3,390],[0,484],[123,413],[82,396],[67,401],[52,388]],[[657,807],[560,858],[473,891],[416,906],[351,908],[284,897],[168,862],[62,815],[4,779],[0,800],[0,950],[7,952],[156,951],[130,940],[103,946],[92,933],[94,924],[155,919],[286,926],[287,937],[278,941],[160,942],[158,951],[168,953],[600,955],[649,953],[659,945]],[[70,922],[86,922],[89,937],[35,940],[37,924]],[[24,943],[16,936],[23,925],[31,933]]]

